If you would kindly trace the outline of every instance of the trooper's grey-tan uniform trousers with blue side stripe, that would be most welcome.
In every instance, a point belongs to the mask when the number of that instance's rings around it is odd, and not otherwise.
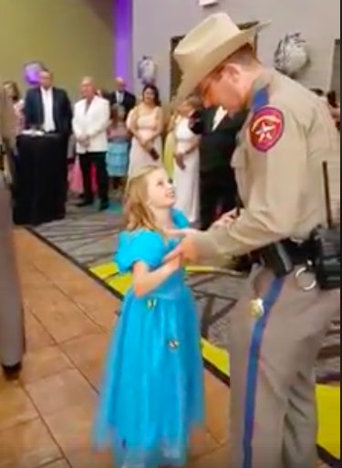
[[[264,299],[259,314],[256,298]],[[304,292],[295,273],[279,280],[254,270],[231,313],[229,466],[315,468],[314,366],[339,309],[339,290]]]

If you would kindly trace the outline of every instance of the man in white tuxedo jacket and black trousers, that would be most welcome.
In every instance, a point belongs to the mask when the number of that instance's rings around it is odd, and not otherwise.
[[[94,80],[88,77],[82,80],[83,99],[75,104],[72,127],[77,141],[77,153],[84,186],[84,199],[79,206],[86,207],[94,201],[91,167],[95,165],[100,199],[99,209],[104,210],[109,206],[106,152],[110,109],[109,101],[97,96],[96,90]]]

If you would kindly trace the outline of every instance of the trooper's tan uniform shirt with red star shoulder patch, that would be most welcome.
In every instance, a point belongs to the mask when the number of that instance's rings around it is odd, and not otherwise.
[[[227,226],[196,234],[203,257],[221,261],[279,239],[306,238],[326,219],[324,160],[333,174],[333,208],[336,213],[339,209],[339,135],[326,106],[310,90],[275,70],[265,72],[257,80],[254,92],[263,87],[269,94],[270,118],[264,112],[262,122],[253,128],[251,112],[233,155],[232,165],[245,209],[240,218]],[[283,120],[275,128],[277,123],[273,120],[277,114]],[[252,142],[257,138],[261,144],[263,138],[270,139],[269,149],[259,150],[257,142]],[[273,138],[277,139],[274,143]]]

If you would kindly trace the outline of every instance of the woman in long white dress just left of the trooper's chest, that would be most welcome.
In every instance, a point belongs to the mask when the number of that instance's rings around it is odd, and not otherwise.
[[[173,183],[176,207],[191,223],[199,218],[200,153],[199,137],[190,130],[190,119],[197,108],[197,98],[184,101],[174,123],[175,154]]]

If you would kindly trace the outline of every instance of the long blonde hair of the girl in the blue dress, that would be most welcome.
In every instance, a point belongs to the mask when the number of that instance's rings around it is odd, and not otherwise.
[[[160,170],[156,165],[144,166],[139,172],[130,176],[124,194],[124,214],[126,229],[161,230],[148,206],[147,178],[154,171]]]

